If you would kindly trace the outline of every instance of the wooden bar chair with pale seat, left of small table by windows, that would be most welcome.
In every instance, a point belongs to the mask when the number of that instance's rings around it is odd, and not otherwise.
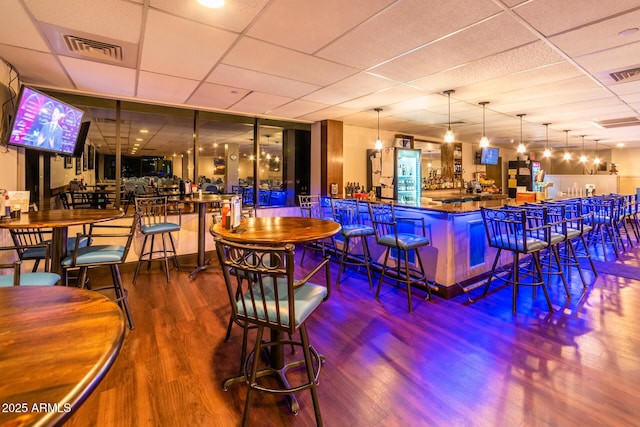
[[[133,283],[136,283],[138,273],[140,272],[140,266],[143,262],[147,262],[147,269],[149,269],[151,268],[152,261],[159,260],[164,261],[167,283],[169,283],[169,256],[173,258],[176,270],[180,270],[180,263],[178,262],[177,256],[178,253],[176,252],[176,246],[171,233],[174,231],[180,231],[182,216],[179,213],[178,223],[168,220],[167,214],[169,206],[167,196],[137,196],[135,203],[136,212],[140,218],[140,232],[144,235],[144,240],[142,241],[142,248],[140,249],[138,265],[136,266],[136,271],[133,275]],[[162,249],[156,249],[154,246],[156,236],[160,237]],[[150,241],[149,237],[151,237]],[[167,250],[165,237],[169,238],[169,243],[171,244],[170,250]],[[147,246],[147,243],[150,243],[149,246]],[[157,256],[158,254],[162,255]]]

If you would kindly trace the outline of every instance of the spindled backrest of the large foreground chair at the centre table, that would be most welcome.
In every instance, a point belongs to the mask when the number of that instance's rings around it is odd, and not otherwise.
[[[294,333],[294,246],[243,245],[216,239],[236,320]],[[251,280],[245,280],[251,278]]]

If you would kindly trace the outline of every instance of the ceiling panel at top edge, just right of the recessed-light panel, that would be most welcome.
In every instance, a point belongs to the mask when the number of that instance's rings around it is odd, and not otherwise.
[[[393,0],[280,0],[266,8],[247,35],[311,54],[391,3]]]

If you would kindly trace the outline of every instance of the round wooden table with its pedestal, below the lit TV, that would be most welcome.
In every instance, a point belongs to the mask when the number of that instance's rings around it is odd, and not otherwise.
[[[63,274],[60,262],[67,256],[67,230],[72,225],[92,224],[119,218],[124,212],[117,209],[52,209],[26,212],[18,219],[0,221],[0,228],[51,228],[51,271]]]

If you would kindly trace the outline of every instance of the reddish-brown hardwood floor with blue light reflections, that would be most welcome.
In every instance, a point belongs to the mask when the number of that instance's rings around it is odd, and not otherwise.
[[[303,267],[313,261],[307,255]],[[617,262],[640,266],[640,249]],[[552,287],[553,314],[542,292],[533,301],[523,289],[515,316],[510,288],[471,304],[416,292],[409,314],[403,290],[385,282],[378,302],[366,274],[347,271],[308,322],[327,360],[318,389],[325,425],[640,425],[639,281],[588,272],[583,294],[576,274],[570,301]],[[236,327],[224,342],[230,308],[219,270],[193,281],[172,271],[167,284],[158,263],[135,286],[132,273],[125,266],[136,329],[67,425],[239,425],[246,387],[220,384],[238,372],[242,334]],[[107,279],[91,272],[93,283]],[[251,425],[314,425],[309,392],[297,397],[294,416],[282,397],[257,394]]]

